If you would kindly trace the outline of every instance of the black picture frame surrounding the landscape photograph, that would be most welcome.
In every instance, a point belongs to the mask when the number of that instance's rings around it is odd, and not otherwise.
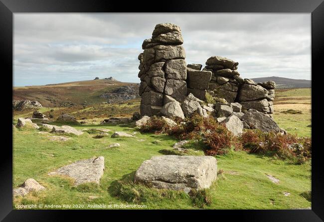
[[[0,161],[0,219],[3,221],[64,221],[70,214],[96,220],[113,220],[112,215],[120,217],[134,214],[141,216],[132,220],[162,220],[171,219],[174,215],[192,218],[201,214],[202,218],[226,220],[233,217],[240,221],[323,221],[324,220],[324,192],[323,192],[323,164],[321,147],[321,71],[324,55],[324,2],[323,0],[177,0],[174,2],[145,2],[145,1],[111,1],[111,0],[0,0],[0,55],[2,95],[6,99],[5,107],[10,110],[12,97],[7,91],[12,74],[13,58],[13,13],[15,12],[285,12],[285,13],[312,13],[312,209],[311,210],[209,210],[209,211],[58,211],[58,210],[12,210],[12,135],[2,139]],[[8,87],[8,89],[6,87]],[[12,84],[11,84],[12,86]],[[12,114],[12,113],[11,113]],[[9,122],[9,118],[5,118]],[[9,133],[10,123],[5,124],[6,133]],[[6,139],[8,138],[8,139]],[[11,140],[10,140],[11,138]],[[6,140],[5,140],[6,139]],[[8,141],[8,145],[4,142]],[[322,167],[321,167],[322,165]],[[125,213],[127,212],[127,214]],[[76,214],[75,214],[76,213]],[[118,220],[118,219],[117,219]]]

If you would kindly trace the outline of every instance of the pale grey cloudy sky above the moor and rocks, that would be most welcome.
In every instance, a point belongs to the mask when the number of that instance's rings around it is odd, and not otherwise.
[[[243,78],[311,79],[311,14],[14,13],[14,86],[140,82],[142,42],[166,22],[180,26],[188,64],[217,55]]]

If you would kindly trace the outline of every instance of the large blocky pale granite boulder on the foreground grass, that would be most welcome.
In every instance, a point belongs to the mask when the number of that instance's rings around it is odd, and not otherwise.
[[[158,189],[199,190],[217,178],[217,160],[212,156],[154,156],[145,160],[134,176],[135,183]]]

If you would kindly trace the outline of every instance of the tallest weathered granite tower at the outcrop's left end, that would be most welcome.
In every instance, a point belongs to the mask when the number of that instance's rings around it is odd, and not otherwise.
[[[152,39],[144,40],[144,52],[138,57],[142,116],[158,114],[165,99],[179,102],[186,97],[187,72],[182,43],[180,28],[170,23],[156,25]]]

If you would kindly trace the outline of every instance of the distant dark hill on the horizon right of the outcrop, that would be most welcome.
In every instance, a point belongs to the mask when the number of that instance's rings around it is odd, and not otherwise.
[[[275,81],[276,88],[311,88],[312,80],[293,79],[278,76],[252,78],[255,82]]]

